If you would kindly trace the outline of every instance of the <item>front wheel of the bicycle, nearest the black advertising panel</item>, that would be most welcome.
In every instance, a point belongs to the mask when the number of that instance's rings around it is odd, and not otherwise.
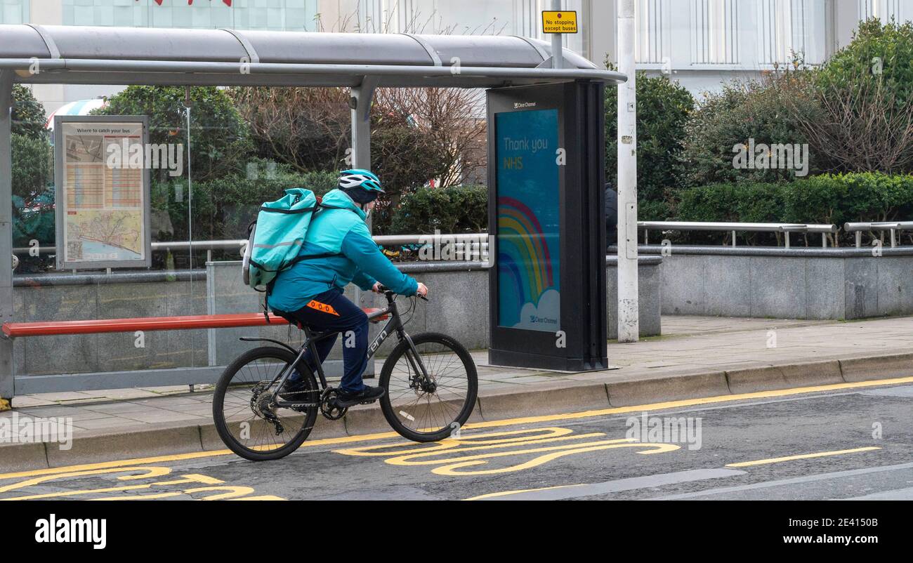
[[[476,363],[462,344],[435,332],[401,341],[381,370],[381,410],[387,422],[414,442],[443,440],[467,422],[476,406]],[[427,379],[422,376],[424,367]]]

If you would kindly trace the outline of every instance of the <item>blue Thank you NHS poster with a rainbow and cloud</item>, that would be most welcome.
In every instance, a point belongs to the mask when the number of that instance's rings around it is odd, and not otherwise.
[[[498,326],[561,329],[558,110],[495,116]]]

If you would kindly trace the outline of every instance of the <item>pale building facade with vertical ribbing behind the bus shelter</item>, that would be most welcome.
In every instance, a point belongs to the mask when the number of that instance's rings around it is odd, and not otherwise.
[[[617,0],[564,0],[580,33],[564,37],[596,64],[615,60]],[[695,94],[801,58],[820,64],[861,19],[913,18],[913,0],[635,0],[639,68]],[[0,24],[148,26],[548,38],[551,0],[0,0]],[[37,86],[49,111],[110,88]]]

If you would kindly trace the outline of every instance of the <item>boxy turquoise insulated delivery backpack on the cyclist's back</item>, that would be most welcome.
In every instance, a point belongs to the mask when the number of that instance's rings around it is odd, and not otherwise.
[[[281,199],[261,205],[257,221],[247,227],[244,283],[257,291],[268,291],[279,272],[299,262],[304,235],[319,205],[310,190],[289,188],[285,193]]]

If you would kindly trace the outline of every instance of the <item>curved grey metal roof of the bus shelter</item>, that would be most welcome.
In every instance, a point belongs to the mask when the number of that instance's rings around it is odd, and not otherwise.
[[[23,83],[355,87],[370,76],[381,87],[490,88],[626,79],[568,49],[563,56],[565,68],[551,68],[551,45],[520,36],[0,25],[0,69]]]

